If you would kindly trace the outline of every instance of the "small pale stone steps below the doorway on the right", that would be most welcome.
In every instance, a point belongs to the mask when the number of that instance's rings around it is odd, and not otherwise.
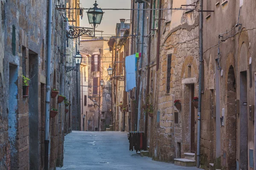
[[[195,166],[195,153],[184,153],[185,158],[175,158],[174,164],[183,167]]]

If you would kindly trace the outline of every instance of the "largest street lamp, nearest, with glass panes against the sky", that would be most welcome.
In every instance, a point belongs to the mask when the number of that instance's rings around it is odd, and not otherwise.
[[[101,8],[97,7],[98,6],[97,1],[95,1],[93,5],[94,7],[90,8],[87,11],[87,16],[88,16],[89,23],[94,28],[94,37],[95,37],[95,28],[101,23],[104,12],[102,11]]]

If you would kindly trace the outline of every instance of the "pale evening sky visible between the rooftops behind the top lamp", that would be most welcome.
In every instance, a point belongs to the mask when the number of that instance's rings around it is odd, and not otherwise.
[[[82,8],[93,8],[95,0],[80,0]],[[98,8],[131,8],[131,0],[97,0]],[[87,10],[84,10],[83,19],[80,17],[81,27],[91,27],[88,22]],[[104,11],[104,10],[103,10]],[[130,12],[128,10],[105,10],[101,24],[96,30],[104,31],[102,34],[116,34],[116,23],[120,23],[120,19],[130,20]],[[96,32],[96,34],[101,34]],[[103,37],[110,37],[111,35],[102,35]]]

